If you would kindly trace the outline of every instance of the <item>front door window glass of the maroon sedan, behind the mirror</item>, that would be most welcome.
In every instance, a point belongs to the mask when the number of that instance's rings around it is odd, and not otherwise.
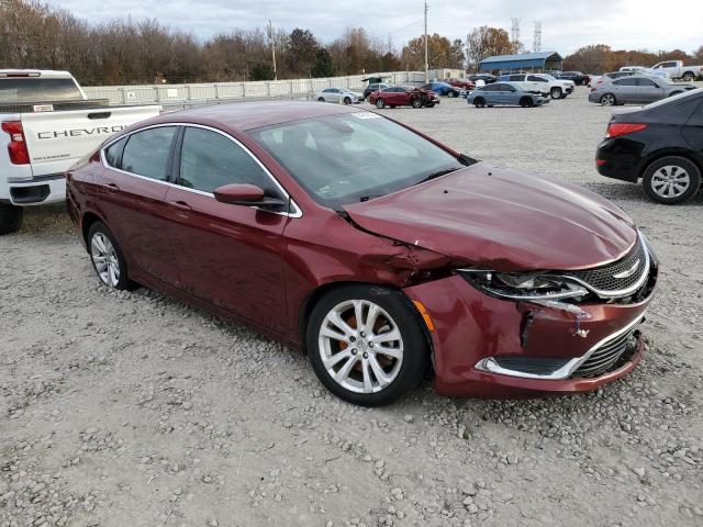
[[[268,175],[228,137],[210,130],[188,127],[183,133],[178,183],[212,192],[230,183],[252,183],[275,192]]]

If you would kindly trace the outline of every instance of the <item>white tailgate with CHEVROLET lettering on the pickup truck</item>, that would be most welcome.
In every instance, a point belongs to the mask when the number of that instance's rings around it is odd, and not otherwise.
[[[120,106],[21,114],[32,175],[63,173],[122,128],[159,114],[160,106]]]

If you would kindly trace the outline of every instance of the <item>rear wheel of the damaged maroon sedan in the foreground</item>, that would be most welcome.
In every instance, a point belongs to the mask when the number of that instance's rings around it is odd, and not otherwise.
[[[112,289],[130,290],[135,283],[127,277],[127,265],[114,235],[102,222],[88,231],[88,250],[100,281]]]

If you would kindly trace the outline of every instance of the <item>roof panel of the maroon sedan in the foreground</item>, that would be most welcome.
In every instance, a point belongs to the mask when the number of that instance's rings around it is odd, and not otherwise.
[[[165,123],[193,123],[226,127],[233,132],[270,126],[274,124],[300,121],[302,119],[324,117],[341,113],[362,112],[364,110],[343,104],[320,104],[305,101],[252,101],[213,104],[192,108],[180,112],[166,113],[148,121],[141,121],[131,130]]]

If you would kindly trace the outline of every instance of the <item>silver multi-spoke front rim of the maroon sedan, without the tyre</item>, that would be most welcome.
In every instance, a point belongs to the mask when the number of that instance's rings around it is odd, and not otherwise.
[[[330,377],[356,393],[376,393],[398,377],[403,338],[393,318],[368,300],[347,300],[324,317],[319,352]]]

